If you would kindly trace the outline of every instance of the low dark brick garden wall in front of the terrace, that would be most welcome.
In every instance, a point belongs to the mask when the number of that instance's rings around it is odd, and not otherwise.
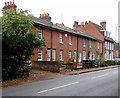
[[[32,66],[38,70],[59,73],[61,64],[57,61],[33,61]]]

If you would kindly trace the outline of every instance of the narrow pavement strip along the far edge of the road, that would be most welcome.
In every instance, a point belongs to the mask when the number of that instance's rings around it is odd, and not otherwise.
[[[70,72],[65,72],[65,74],[67,74],[67,75],[77,75],[77,74],[99,71],[99,70],[105,70],[105,69],[116,68],[116,67],[120,67],[120,65],[98,67],[98,68],[89,68],[89,69],[78,69],[78,70],[74,70],[74,71],[70,71]]]

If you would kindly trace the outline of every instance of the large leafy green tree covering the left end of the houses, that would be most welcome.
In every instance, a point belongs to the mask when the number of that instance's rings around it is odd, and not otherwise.
[[[28,11],[8,10],[2,19],[2,71],[3,80],[19,77],[24,61],[34,55],[34,48],[42,48],[44,40],[32,31],[33,19]],[[24,75],[22,75],[24,76]]]

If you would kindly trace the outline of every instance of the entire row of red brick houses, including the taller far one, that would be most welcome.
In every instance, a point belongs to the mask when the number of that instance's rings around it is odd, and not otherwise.
[[[3,10],[17,8],[12,2],[5,3]],[[74,21],[73,28],[63,23],[54,24],[48,13],[33,17],[34,27],[39,38],[44,38],[42,50],[34,49],[32,60],[37,61],[67,61],[74,57],[74,62],[95,60],[104,57],[112,60],[115,57],[114,40],[111,32],[106,30],[106,21],[97,25],[91,21],[78,23]]]

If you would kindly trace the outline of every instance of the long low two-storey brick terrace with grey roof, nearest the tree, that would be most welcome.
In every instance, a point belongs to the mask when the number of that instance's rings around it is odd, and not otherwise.
[[[102,54],[102,40],[85,32],[76,32],[63,23],[53,24],[48,13],[33,20],[34,28],[46,45],[42,50],[35,50],[33,60],[66,61],[74,56],[74,61],[80,63],[82,59],[96,59]]]

